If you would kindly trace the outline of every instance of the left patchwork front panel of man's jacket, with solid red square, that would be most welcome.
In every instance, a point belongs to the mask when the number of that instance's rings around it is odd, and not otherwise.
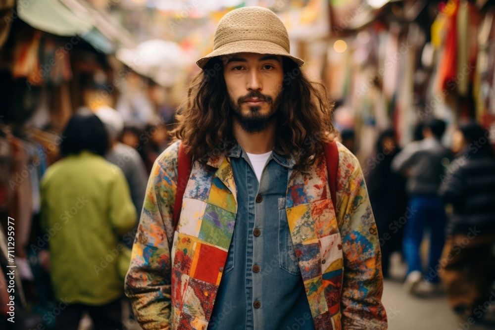
[[[209,322],[237,213],[232,165],[222,156],[195,163],[174,241],[174,326],[205,329]],[[192,326],[194,325],[194,326]]]

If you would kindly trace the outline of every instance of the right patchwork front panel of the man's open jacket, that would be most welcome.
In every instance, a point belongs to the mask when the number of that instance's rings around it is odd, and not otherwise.
[[[339,312],[343,267],[341,237],[326,172],[323,156],[307,171],[294,170],[286,197],[289,230],[317,330],[334,329],[331,318]]]

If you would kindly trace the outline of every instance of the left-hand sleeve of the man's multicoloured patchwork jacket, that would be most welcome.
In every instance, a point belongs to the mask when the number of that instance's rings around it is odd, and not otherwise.
[[[144,330],[171,329],[173,208],[177,190],[178,143],[155,161],[125,280],[136,320]]]

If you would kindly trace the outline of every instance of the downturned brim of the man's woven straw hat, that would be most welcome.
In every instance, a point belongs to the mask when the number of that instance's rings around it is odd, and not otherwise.
[[[292,59],[298,66],[304,64],[304,61],[300,58],[292,56],[285,50],[284,47],[274,44],[269,41],[263,40],[240,40],[232,43],[225,44],[221,47],[210,52],[208,55],[201,57],[196,61],[196,64],[202,69],[204,65],[213,57],[222,55],[231,55],[236,53],[257,53],[257,54],[270,54],[281,55]]]

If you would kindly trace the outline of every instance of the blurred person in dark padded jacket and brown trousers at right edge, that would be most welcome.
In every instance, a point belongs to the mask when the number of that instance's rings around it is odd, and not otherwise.
[[[454,311],[481,319],[489,301],[495,265],[495,155],[489,133],[476,123],[459,127],[455,158],[443,177],[439,195],[452,205],[440,275]],[[481,306],[481,307],[480,307]]]

